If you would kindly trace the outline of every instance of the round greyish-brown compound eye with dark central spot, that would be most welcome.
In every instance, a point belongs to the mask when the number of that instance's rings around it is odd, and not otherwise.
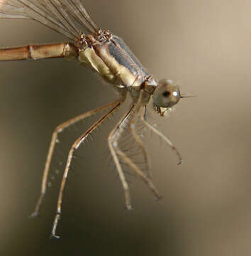
[[[160,80],[152,95],[157,107],[172,107],[180,99],[179,87],[172,80]]]

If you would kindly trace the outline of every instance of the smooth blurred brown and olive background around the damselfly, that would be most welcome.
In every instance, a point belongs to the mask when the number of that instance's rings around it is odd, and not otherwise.
[[[250,255],[251,2],[127,0],[85,5],[102,28],[121,36],[155,78],[182,82],[182,99],[153,122],[181,152],[147,138],[155,201],[130,178],[134,210],[124,208],[121,182],[106,138],[123,110],[81,146],[69,174],[50,240],[67,150],[93,121],[60,134],[40,217],[28,216],[40,192],[53,129],[116,95],[70,60],[0,63],[1,255]],[[35,21],[0,21],[0,46],[66,41]]]

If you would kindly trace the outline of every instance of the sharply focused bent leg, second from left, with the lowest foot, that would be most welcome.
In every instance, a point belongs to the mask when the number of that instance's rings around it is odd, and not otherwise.
[[[95,122],[93,125],[91,125],[91,127],[89,127],[89,129],[87,129],[87,132],[84,132],[84,134],[82,134],[82,136],[80,136],[75,142],[74,144],[72,144],[71,149],[69,150],[69,154],[68,154],[68,158],[67,158],[67,163],[65,166],[65,171],[63,174],[63,178],[62,178],[62,182],[60,185],[60,193],[57,199],[57,213],[55,215],[55,219],[54,219],[54,223],[52,225],[52,237],[54,238],[60,238],[59,236],[56,235],[56,229],[57,229],[57,223],[60,220],[60,214],[61,214],[61,206],[62,206],[62,195],[65,189],[65,183],[67,180],[67,175],[69,172],[69,166],[72,163],[72,158],[73,158],[73,154],[74,151],[77,150],[79,148],[79,146],[82,144],[82,142],[84,142],[84,140],[89,136],[89,134],[91,134],[91,132],[93,132],[97,127],[99,127],[99,125],[104,122],[104,120],[106,118],[108,118],[115,110],[118,109],[118,107],[121,106],[121,104],[123,103],[123,100],[117,101],[116,105],[113,105],[113,108],[111,110],[109,110],[103,117],[101,117],[97,122]]]

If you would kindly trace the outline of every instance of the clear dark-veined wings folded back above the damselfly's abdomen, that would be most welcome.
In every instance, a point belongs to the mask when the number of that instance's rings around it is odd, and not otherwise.
[[[82,0],[0,0],[0,18],[30,18],[72,40],[99,31]]]

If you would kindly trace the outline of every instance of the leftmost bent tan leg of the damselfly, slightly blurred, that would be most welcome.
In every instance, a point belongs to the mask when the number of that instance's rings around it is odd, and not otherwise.
[[[114,102],[110,102],[102,107],[98,107],[94,110],[90,110],[88,112],[85,112],[83,114],[79,114],[77,117],[74,117],[72,119],[69,119],[67,122],[64,122],[62,124],[60,124],[59,126],[57,126],[54,130],[54,132],[52,133],[52,139],[50,142],[50,148],[48,151],[48,156],[45,162],[45,169],[43,171],[43,179],[42,179],[42,184],[41,184],[41,191],[40,191],[40,196],[38,198],[38,202],[35,206],[35,210],[33,211],[33,213],[30,215],[31,217],[35,217],[38,215],[39,210],[40,210],[40,206],[41,203],[43,201],[43,198],[45,197],[45,192],[46,192],[46,188],[47,188],[47,182],[48,182],[48,174],[49,174],[49,170],[50,170],[50,164],[52,161],[52,155],[53,152],[55,150],[55,145],[57,143],[57,136],[60,132],[62,132],[64,129],[66,129],[67,127],[69,127],[70,125],[79,122],[82,119],[85,119],[87,117],[90,117],[93,114],[96,114],[98,112],[101,112],[102,110],[106,110],[108,107],[113,107],[118,105],[118,103],[121,102],[121,100],[117,100]]]

